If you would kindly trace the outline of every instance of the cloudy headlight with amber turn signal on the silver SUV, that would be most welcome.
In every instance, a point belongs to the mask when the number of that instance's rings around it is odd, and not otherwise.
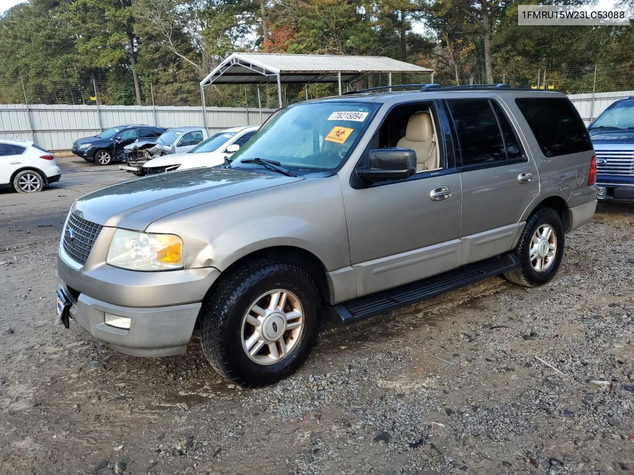
[[[130,270],[183,269],[183,241],[172,234],[117,229],[106,262]]]

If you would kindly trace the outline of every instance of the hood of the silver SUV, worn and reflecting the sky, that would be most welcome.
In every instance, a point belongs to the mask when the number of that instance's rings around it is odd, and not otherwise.
[[[177,170],[86,194],[75,201],[74,210],[97,224],[143,231],[153,221],[193,206],[301,180],[247,170]]]

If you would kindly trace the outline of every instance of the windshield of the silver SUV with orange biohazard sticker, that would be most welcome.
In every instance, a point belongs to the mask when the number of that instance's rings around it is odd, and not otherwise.
[[[269,120],[231,162],[275,160],[300,174],[336,170],[378,107],[347,101],[290,106]]]

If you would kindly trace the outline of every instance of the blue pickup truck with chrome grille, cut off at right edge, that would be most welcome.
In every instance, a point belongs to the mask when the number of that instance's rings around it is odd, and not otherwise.
[[[597,154],[597,198],[634,203],[634,97],[612,103],[588,131]]]

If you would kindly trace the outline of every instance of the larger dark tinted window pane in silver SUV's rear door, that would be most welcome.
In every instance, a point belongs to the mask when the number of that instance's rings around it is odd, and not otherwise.
[[[505,160],[507,154],[498,120],[488,99],[450,99],[462,165]]]

